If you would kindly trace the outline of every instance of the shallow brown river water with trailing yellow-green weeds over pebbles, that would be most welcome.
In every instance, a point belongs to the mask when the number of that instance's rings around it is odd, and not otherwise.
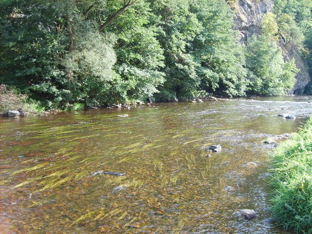
[[[273,147],[262,142],[297,131],[311,99],[1,118],[0,233],[285,234],[270,219]],[[208,153],[212,144],[222,152]],[[125,175],[94,175],[99,171]],[[257,216],[245,220],[241,209]]]

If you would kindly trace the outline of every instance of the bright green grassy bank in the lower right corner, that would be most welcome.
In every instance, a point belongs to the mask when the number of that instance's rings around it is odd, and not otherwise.
[[[296,233],[312,234],[312,117],[273,153],[272,216]]]

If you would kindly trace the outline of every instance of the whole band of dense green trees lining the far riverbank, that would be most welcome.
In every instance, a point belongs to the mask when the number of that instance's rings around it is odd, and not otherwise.
[[[47,109],[285,94],[298,70],[279,40],[309,58],[311,2],[276,0],[246,48],[229,2],[0,0],[0,83]]]

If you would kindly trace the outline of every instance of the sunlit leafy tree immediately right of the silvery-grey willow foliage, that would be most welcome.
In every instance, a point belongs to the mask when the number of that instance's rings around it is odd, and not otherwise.
[[[112,2],[109,11],[120,9],[120,2]],[[120,15],[105,29],[117,37],[116,72],[120,79],[114,83],[112,94],[120,101],[145,100],[157,93],[157,86],[164,82],[163,49],[156,37],[158,29],[150,25],[149,3],[138,1],[124,14]]]

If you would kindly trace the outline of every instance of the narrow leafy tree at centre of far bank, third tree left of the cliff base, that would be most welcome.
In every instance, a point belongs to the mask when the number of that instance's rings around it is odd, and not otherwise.
[[[164,49],[166,82],[159,99],[193,98],[197,96],[200,80],[196,74],[197,64],[191,54],[193,40],[201,25],[190,12],[188,0],[151,1],[156,16],[153,24],[161,31],[157,39]]]

